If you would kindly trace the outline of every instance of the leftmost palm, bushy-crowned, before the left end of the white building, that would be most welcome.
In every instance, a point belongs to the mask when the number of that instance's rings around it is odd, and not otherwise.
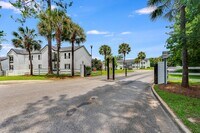
[[[19,33],[13,32],[14,39],[12,39],[12,43],[16,48],[22,48],[28,52],[30,61],[30,75],[33,75],[33,63],[32,63],[31,52],[33,50],[40,50],[41,41],[35,40],[37,34],[35,34],[34,29],[29,29],[28,27],[26,28],[19,27],[18,31]]]

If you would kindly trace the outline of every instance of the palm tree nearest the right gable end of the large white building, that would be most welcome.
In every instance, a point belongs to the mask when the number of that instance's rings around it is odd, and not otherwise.
[[[75,44],[80,45],[80,43],[84,43],[86,41],[86,35],[84,30],[73,22],[70,23],[70,33],[66,35],[64,40],[69,41],[72,44],[72,67],[71,67],[71,75],[74,76],[74,46]]]

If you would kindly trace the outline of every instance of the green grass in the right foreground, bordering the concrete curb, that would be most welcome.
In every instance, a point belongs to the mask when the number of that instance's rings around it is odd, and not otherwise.
[[[200,99],[167,92],[158,85],[155,90],[192,132],[200,133]],[[196,118],[199,123],[192,123],[188,118]]]

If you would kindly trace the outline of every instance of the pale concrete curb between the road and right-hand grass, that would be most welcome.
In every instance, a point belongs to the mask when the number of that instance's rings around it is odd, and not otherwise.
[[[173,113],[173,111],[169,108],[169,106],[162,100],[162,98],[157,94],[154,90],[154,84],[151,86],[151,90],[158,101],[161,103],[163,109],[170,115],[175,124],[179,127],[179,129],[184,133],[191,133],[191,131],[182,123],[182,121]]]

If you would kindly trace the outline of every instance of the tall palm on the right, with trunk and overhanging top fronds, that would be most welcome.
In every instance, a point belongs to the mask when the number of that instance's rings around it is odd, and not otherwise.
[[[170,21],[180,13],[180,32],[181,32],[181,44],[182,44],[182,87],[189,87],[188,80],[188,50],[187,50],[187,40],[186,40],[186,3],[191,3],[192,0],[181,1],[181,0],[148,0],[149,6],[156,6],[156,10],[151,13],[151,19],[155,20],[156,18],[162,16],[168,18]]]

